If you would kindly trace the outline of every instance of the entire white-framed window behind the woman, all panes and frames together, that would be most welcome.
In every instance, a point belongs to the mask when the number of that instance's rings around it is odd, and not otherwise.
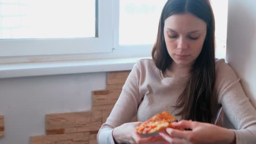
[[[0,0],[0,59],[150,56],[166,1]],[[211,3],[216,18],[216,57],[224,58],[227,0]]]

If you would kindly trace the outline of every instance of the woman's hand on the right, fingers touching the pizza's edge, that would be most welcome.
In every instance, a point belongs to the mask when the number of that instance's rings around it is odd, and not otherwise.
[[[178,128],[190,128],[192,131],[167,128],[160,132],[163,139],[170,144],[235,144],[235,132],[227,128],[187,120],[172,124]]]

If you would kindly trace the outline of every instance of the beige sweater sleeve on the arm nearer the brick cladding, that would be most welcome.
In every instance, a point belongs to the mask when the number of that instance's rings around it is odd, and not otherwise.
[[[136,117],[137,109],[142,100],[139,92],[139,83],[141,80],[141,72],[139,63],[136,63],[131,70],[122,92],[112,109],[106,123],[101,125],[97,135],[99,144],[115,144],[112,137],[113,128],[124,123],[129,123]]]

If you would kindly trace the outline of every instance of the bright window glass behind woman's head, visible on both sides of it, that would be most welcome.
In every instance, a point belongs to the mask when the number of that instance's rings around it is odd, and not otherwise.
[[[167,0],[120,0],[116,47],[152,47],[161,10]],[[216,22],[216,58],[226,57],[228,0],[211,0]]]

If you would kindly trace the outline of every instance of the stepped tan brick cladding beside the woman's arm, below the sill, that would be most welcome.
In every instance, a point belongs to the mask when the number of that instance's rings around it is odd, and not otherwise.
[[[30,143],[97,144],[99,128],[107,120],[129,73],[108,72],[107,89],[92,92],[91,111],[45,115],[45,135],[31,136]]]

